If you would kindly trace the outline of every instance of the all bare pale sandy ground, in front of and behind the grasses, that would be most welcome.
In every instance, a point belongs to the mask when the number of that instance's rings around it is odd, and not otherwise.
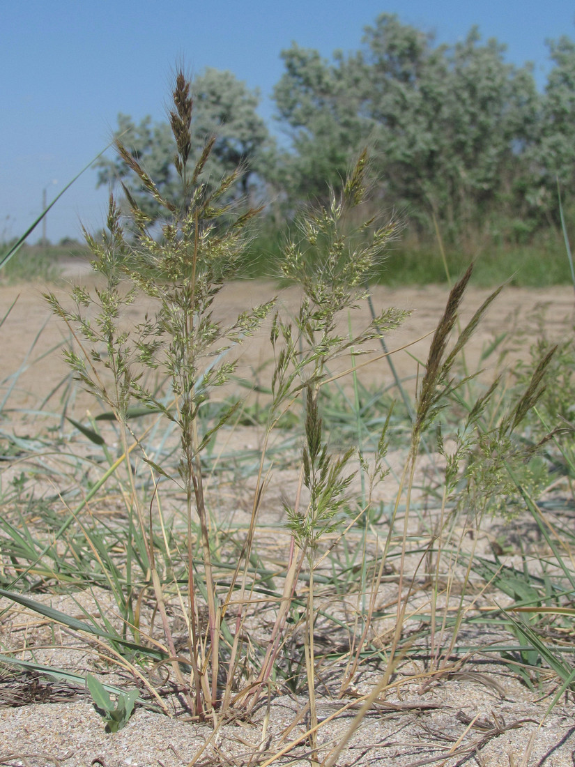
[[[217,311],[231,318],[273,292],[274,286],[270,284],[231,285],[226,288]],[[463,324],[487,295],[488,291],[474,288],[468,291]],[[412,344],[429,334],[442,315],[446,296],[446,288],[437,286],[393,291],[375,288],[376,310],[392,305],[412,311],[403,328],[387,339],[389,349]],[[10,414],[11,409],[38,407],[38,398],[45,397],[61,382],[66,374],[61,355],[58,352],[44,355],[44,352],[65,341],[67,331],[51,318],[41,298],[40,286],[0,286],[0,316],[15,300],[0,330],[0,380],[4,380],[2,397],[14,383],[5,412],[15,430],[21,429],[23,433],[28,426],[18,426]],[[281,291],[279,300],[288,311],[293,310],[297,293],[291,289]],[[571,288],[506,289],[490,308],[468,347],[468,367],[475,370],[482,352],[494,337],[512,329],[522,331],[524,337],[512,345],[510,354],[524,355],[536,332],[537,314],[543,310],[548,336],[557,340],[566,337],[573,329],[574,306]],[[133,317],[140,316],[141,311],[141,306],[136,305]],[[354,327],[359,328],[366,320],[366,314],[354,318]],[[268,344],[266,331],[245,344],[241,369],[246,374],[269,359]],[[415,385],[417,374],[417,366],[409,355],[423,359],[427,344],[429,337],[409,346],[409,354],[398,351],[393,355],[397,374],[411,382],[409,386]],[[376,354],[380,354],[380,350]],[[345,367],[345,363],[342,364]],[[481,367],[486,368],[485,376],[491,377],[498,367],[498,355],[488,357]],[[11,377],[15,371],[19,371],[16,381]],[[366,367],[365,375],[363,380],[370,384],[384,387],[393,382],[386,360]],[[54,406],[57,410],[57,399],[58,391],[48,407]],[[72,412],[81,420],[87,407],[91,407],[90,400],[80,396]],[[393,588],[396,587],[390,583],[390,594]],[[54,607],[65,609],[66,597],[44,595],[44,598]],[[101,594],[100,606],[110,609],[110,615],[113,613],[113,607],[106,605],[105,594]],[[32,646],[34,651],[22,652],[21,657],[28,660],[34,657],[36,662],[46,665],[64,665],[80,673],[101,669],[97,653],[77,639],[62,634],[54,641],[50,635],[50,642],[48,629],[38,624],[37,616],[23,608],[18,608],[16,614],[14,611],[3,614],[5,607],[8,602],[0,601],[0,647]],[[470,644],[477,640],[471,636],[464,638]],[[489,638],[481,637],[485,642]],[[58,640],[64,649],[54,649]],[[572,695],[560,696],[553,712],[547,716],[550,700],[558,689],[552,674],[543,676],[538,689],[528,690],[508,667],[480,653],[475,653],[461,667],[453,667],[449,673],[431,680],[426,677],[425,663],[419,666],[418,663],[405,670],[405,676],[399,675],[397,686],[389,690],[385,700],[379,700],[370,709],[337,760],[337,767],[464,764],[573,767],[575,764]],[[409,675],[415,675],[415,679],[409,680]],[[370,690],[378,678],[378,672],[365,671],[342,696],[338,696],[337,685],[327,683],[321,691],[318,703],[321,759],[345,736],[357,714],[360,696]],[[130,685],[129,681],[126,683]],[[304,737],[309,724],[306,703],[304,697],[278,694],[269,708],[263,705],[244,721],[225,724],[215,731],[209,725],[186,722],[182,717],[169,718],[139,707],[125,729],[110,734],[104,731],[104,723],[84,690],[66,685],[50,686],[46,680],[35,680],[31,675],[19,680],[0,680],[0,765],[307,765],[311,762]]]

